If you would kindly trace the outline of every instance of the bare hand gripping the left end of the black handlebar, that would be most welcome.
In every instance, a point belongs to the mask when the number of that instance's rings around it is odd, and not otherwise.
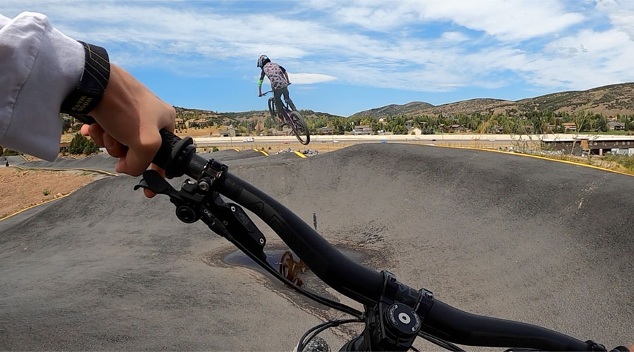
[[[110,80],[104,97],[90,115],[97,121],[82,126],[82,134],[119,158],[117,172],[138,176],[147,170],[161,146],[159,130],[174,132],[176,111],[159,99],[130,73],[111,64]],[[165,171],[151,164],[165,177]],[[144,189],[148,197],[156,194]]]

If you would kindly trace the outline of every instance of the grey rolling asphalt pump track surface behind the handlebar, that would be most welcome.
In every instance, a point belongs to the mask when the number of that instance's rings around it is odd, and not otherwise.
[[[399,144],[228,165],[457,308],[609,346],[634,339],[634,177]],[[136,182],[99,180],[0,222],[0,349],[290,351],[321,320],[249,269],[205,263],[228,243]]]

